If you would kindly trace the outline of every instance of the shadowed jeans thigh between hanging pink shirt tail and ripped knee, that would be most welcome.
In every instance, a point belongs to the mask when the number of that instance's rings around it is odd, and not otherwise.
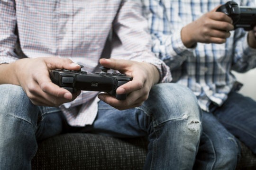
[[[148,118],[139,108],[117,110],[100,101],[98,114],[93,124],[82,127],[78,131],[114,137],[146,136],[146,130],[140,124]]]

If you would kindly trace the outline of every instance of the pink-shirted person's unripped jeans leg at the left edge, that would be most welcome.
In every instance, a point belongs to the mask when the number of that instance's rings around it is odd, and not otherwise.
[[[33,105],[18,85],[0,85],[0,170],[30,170],[37,140],[62,132],[58,108]]]

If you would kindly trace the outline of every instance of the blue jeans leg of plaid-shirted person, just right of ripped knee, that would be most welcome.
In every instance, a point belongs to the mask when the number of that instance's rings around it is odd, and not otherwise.
[[[194,170],[235,170],[240,145],[211,112],[202,113],[202,136]]]

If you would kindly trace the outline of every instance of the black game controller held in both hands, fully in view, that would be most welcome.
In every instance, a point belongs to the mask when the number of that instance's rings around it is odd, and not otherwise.
[[[83,66],[81,65],[81,68]],[[120,85],[132,80],[132,77],[121,73],[108,73],[110,68],[100,67],[101,72],[88,74],[86,71],[55,69],[50,72],[53,83],[75,93],[77,90],[107,92],[118,100],[125,100],[127,94],[116,94]]]

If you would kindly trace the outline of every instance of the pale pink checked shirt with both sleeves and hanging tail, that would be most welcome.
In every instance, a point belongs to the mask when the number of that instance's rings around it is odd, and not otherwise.
[[[0,0],[0,63],[18,59],[14,53],[16,25],[27,57],[70,58],[89,73],[98,71],[112,28],[119,38],[113,43],[111,58],[152,63],[162,82],[171,81],[169,68],[151,51],[150,34],[138,0]],[[73,102],[61,106],[70,125],[93,122],[98,93],[83,91]]]

